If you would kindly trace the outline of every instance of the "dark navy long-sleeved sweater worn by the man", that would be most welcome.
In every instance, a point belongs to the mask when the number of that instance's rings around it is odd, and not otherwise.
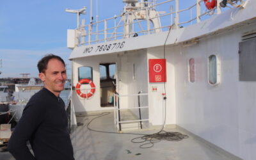
[[[24,108],[8,142],[8,150],[17,160],[73,160],[67,124],[63,100],[43,88]],[[26,145],[28,140],[35,157]]]

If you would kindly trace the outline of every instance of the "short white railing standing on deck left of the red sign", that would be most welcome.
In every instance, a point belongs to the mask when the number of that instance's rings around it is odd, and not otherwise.
[[[119,95],[118,93],[114,93],[114,119],[115,119],[115,125],[118,129],[118,131],[122,131],[122,124],[127,124],[127,123],[140,123],[140,129],[142,129],[142,122],[147,122],[148,118],[141,118],[141,109],[148,109],[148,106],[141,106],[141,96],[143,97],[148,97],[148,93],[142,93],[141,91],[138,94],[128,94],[128,95]],[[122,97],[131,97],[136,98],[138,97],[138,106],[132,106],[132,107],[128,107],[128,108],[121,108],[120,105],[120,99]],[[132,102],[129,102],[129,105],[131,105]],[[121,118],[121,111],[131,111],[132,110],[132,114],[133,115],[138,115],[138,120],[122,120]],[[138,111],[138,113],[136,112],[136,110]]]

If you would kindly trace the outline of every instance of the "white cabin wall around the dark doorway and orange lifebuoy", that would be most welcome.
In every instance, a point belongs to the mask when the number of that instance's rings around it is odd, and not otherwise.
[[[113,109],[100,107],[100,63],[116,63],[116,84],[117,92],[120,95],[136,94],[139,91],[147,93],[147,54],[145,50],[74,59],[73,86],[76,86],[78,82],[78,68],[82,66],[93,68],[93,83],[96,86],[95,93],[89,99],[83,99],[79,97],[75,91],[73,92],[73,102],[76,112]],[[133,65],[135,68],[133,68]],[[147,105],[148,101],[145,97],[141,97],[141,102]],[[129,97],[121,97],[120,107],[138,107],[138,97],[133,97],[132,99]],[[137,115],[138,111],[134,111],[134,113]],[[145,116],[147,115],[148,114],[145,113]]]

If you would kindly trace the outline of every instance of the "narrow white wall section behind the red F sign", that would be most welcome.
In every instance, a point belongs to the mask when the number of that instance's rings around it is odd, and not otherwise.
[[[166,48],[167,49],[167,48]],[[170,50],[168,50],[170,51]],[[149,104],[149,119],[152,125],[163,125],[164,114],[166,112],[166,124],[176,123],[175,111],[175,72],[173,60],[170,57],[170,52],[166,50],[166,109],[165,101],[163,100],[164,83],[148,83],[148,104]],[[148,59],[163,59],[164,47],[154,47],[148,49]],[[152,88],[157,88],[157,92],[153,92]],[[166,111],[165,111],[166,110]]]

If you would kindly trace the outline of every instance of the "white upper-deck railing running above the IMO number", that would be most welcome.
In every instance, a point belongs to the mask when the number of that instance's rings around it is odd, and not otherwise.
[[[178,29],[208,19],[213,14],[221,13],[221,0],[217,0],[218,5],[212,10],[205,8],[204,0],[194,1],[195,4],[182,10],[179,10],[179,0],[168,0],[157,4],[148,3],[148,6],[134,7],[131,12],[124,12],[121,15],[115,15],[109,19],[99,20],[87,25],[81,24],[77,29],[76,45],[97,44],[111,40],[131,38],[132,36],[168,31],[168,29]],[[170,8],[170,10],[161,12],[161,10],[166,10],[166,8]],[[155,17],[149,17],[148,13],[156,9],[160,12],[156,12],[157,15]],[[139,19],[136,17],[138,13],[145,13],[145,18]],[[131,22],[127,21],[129,15],[135,17]],[[159,20],[159,27],[152,26],[150,24],[152,20]],[[127,26],[132,26],[132,30],[125,31]]]

